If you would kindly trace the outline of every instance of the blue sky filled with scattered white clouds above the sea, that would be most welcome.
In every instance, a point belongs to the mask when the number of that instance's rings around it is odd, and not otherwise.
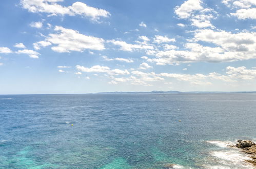
[[[256,91],[255,0],[0,2],[0,94]]]

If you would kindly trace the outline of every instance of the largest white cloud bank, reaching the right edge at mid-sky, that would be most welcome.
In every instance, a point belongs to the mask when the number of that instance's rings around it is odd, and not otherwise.
[[[156,58],[147,59],[157,65],[175,65],[180,62],[227,62],[256,58],[256,33],[230,33],[210,29],[197,30],[191,43],[186,43],[183,50],[173,47],[170,50],[157,51]],[[203,46],[199,43],[210,43]]]

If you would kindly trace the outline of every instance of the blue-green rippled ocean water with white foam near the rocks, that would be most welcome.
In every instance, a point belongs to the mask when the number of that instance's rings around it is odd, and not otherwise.
[[[227,145],[255,113],[256,94],[0,95],[0,168],[253,168]]]

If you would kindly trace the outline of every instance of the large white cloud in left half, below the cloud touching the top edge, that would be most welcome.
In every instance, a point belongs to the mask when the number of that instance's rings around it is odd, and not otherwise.
[[[90,50],[104,50],[104,39],[94,36],[87,36],[72,29],[66,29],[61,26],[54,28],[56,34],[49,34],[45,41],[35,43],[35,49],[38,47],[45,47],[50,44],[56,45],[51,49],[55,52],[83,52],[86,49]]]

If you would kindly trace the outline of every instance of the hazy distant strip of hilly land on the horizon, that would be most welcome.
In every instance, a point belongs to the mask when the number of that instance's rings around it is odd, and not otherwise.
[[[99,92],[96,94],[135,94],[135,93],[148,93],[148,94],[203,94],[203,93],[256,93],[256,91],[238,91],[238,92],[219,92],[219,91],[192,91],[192,92],[180,92],[180,91],[151,91],[151,92]]]

